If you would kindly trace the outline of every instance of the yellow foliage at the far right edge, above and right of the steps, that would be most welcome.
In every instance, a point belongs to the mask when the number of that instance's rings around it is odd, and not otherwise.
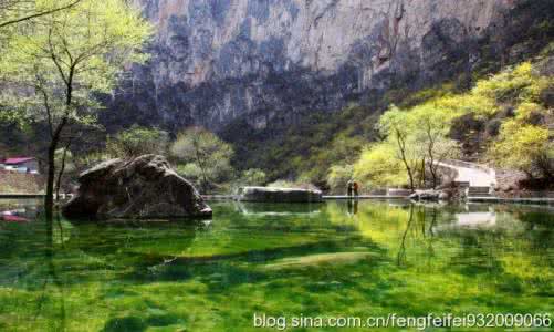
[[[554,80],[551,76],[540,75],[530,62],[524,62],[479,81],[468,94],[441,98],[437,104],[485,118],[495,116],[503,107],[515,110],[513,118],[504,120],[500,135],[493,138],[488,156],[501,167],[532,174],[537,163],[551,158],[548,129],[544,122],[534,122],[537,117],[547,116],[548,110],[542,105],[541,96],[553,86]]]

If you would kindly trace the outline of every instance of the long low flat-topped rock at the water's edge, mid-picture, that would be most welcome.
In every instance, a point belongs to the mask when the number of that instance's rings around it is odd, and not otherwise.
[[[240,200],[258,203],[321,203],[322,193],[310,189],[244,187]]]

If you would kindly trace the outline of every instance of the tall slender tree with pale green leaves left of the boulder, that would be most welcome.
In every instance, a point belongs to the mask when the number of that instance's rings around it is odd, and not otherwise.
[[[1,50],[0,98],[21,117],[48,124],[45,214],[52,220],[54,156],[64,129],[95,121],[94,96],[113,90],[125,64],[146,60],[142,49],[151,28],[124,0],[82,0],[15,29]]]

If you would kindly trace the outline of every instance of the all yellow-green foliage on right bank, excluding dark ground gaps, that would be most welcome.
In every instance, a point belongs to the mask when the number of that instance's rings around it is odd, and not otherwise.
[[[436,159],[458,155],[458,144],[449,138],[453,120],[474,114],[490,121],[499,118],[499,112],[506,107],[515,110],[515,116],[504,120],[500,135],[493,138],[489,158],[499,166],[531,174],[537,164],[544,167],[548,165],[544,160],[553,158],[553,144],[542,121],[550,111],[541,101],[543,92],[553,86],[552,77],[540,75],[530,62],[524,62],[479,81],[463,94],[436,94],[407,110],[393,105],[378,123],[385,141],[362,153],[354,166],[354,176],[373,186],[406,185],[406,168],[411,168],[414,174],[419,172],[418,165],[424,158],[430,158],[429,146],[435,149]],[[400,141],[404,156],[398,146]]]

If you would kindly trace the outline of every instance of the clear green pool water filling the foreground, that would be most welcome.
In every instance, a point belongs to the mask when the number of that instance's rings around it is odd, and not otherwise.
[[[32,201],[0,207],[23,218],[0,221],[1,331],[276,331],[258,329],[254,315],[554,313],[550,207],[212,203],[210,221],[59,219],[51,229]]]

